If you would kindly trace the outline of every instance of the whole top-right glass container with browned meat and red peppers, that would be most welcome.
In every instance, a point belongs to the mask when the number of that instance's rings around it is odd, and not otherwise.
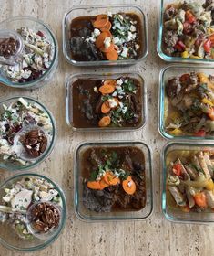
[[[158,0],[158,5],[159,57],[168,62],[213,64],[212,3]]]

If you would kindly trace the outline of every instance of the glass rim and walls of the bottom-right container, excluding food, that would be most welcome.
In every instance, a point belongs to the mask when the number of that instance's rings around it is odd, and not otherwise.
[[[173,207],[170,204],[171,200],[168,197],[167,185],[167,160],[168,154],[172,151],[179,150],[180,154],[185,154],[185,151],[198,150],[214,150],[214,144],[211,143],[169,143],[163,148],[161,155],[162,165],[162,211],[164,216],[169,221],[183,223],[213,223],[214,212],[183,212],[179,208]],[[177,155],[178,157],[178,155]]]

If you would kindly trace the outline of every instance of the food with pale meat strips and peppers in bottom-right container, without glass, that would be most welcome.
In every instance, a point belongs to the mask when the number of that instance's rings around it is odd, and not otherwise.
[[[184,212],[213,212],[213,150],[173,150],[167,161],[167,204]]]

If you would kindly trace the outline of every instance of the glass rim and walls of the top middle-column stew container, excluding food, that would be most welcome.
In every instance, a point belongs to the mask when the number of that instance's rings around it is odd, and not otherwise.
[[[138,15],[141,21],[143,41],[140,56],[137,59],[121,59],[116,61],[97,60],[97,61],[76,61],[72,59],[69,47],[70,24],[78,16],[97,16],[99,14],[116,13],[134,13]],[[76,6],[69,10],[63,19],[63,53],[66,60],[75,66],[83,67],[100,67],[100,66],[124,66],[136,64],[139,60],[146,58],[148,55],[148,22],[143,10],[138,5],[93,5],[93,6]]]

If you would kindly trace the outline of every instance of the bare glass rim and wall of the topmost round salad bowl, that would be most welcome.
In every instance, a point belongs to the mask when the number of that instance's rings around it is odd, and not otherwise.
[[[41,20],[38,20],[34,17],[30,16],[15,16],[6,19],[5,21],[0,23],[0,29],[10,29],[15,30],[20,27],[28,27],[30,29],[41,31],[46,39],[51,43],[54,48],[53,60],[50,64],[50,67],[46,69],[45,73],[35,80],[27,81],[27,82],[13,82],[9,78],[6,77],[3,71],[0,72],[0,82],[4,83],[7,86],[15,87],[15,88],[24,88],[24,89],[34,89],[41,87],[46,82],[52,79],[54,73],[56,72],[57,64],[58,64],[58,45],[55,35],[53,34],[50,27],[44,24]]]

